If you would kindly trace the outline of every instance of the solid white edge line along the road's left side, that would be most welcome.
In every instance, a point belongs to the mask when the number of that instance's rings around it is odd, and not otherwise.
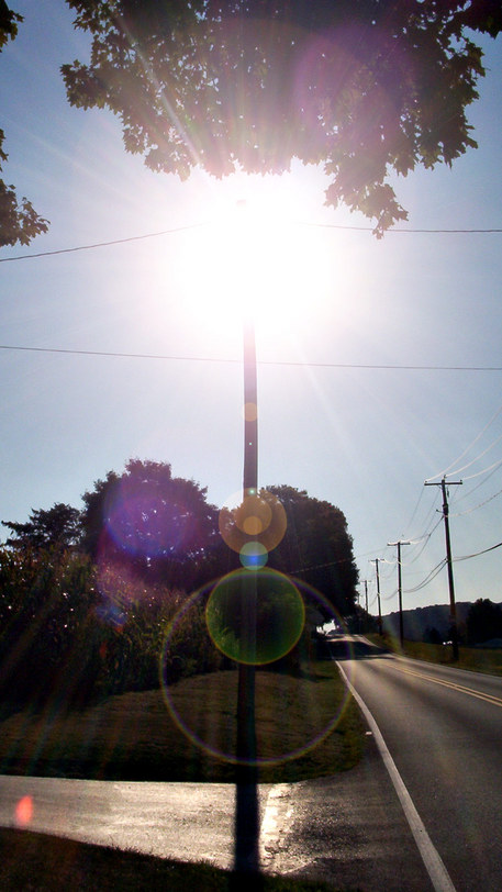
[[[455,887],[450,880],[448,871],[443,862],[443,859],[435,848],[427,830],[425,829],[424,823],[416,811],[413,800],[408,792],[406,787],[404,785],[404,781],[399,773],[395,762],[390,755],[387,744],[382,737],[380,728],[378,727],[372,714],[368,710],[365,701],[359,696],[354,685],[348,680],[344,669],[336,662],[338,667],[338,671],[342,674],[342,678],[345,681],[345,684],[349,689],[352,695],[356,700],[357,704],[359,705],[369,727],[373,734],[376,744],[380,750],[380,755],[383,759],[383,763],[390,774],[390,779],[393,783],[394,790],[398,793],[399,801],[403,807],[404,815],[406,821],[410,825],[410,829],[413,834],[415,843],[419,847],[419,851],[422,856],[422,860],[425,865],[425,869],[431,877],[432,884],[434,887],[435,892],[456,892]]]

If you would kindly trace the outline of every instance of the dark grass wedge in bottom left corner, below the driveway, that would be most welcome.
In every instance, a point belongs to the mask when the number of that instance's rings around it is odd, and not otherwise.
[[[2,892],[62,889],[137,892],[333,892],[333,887],[282,877],[236,877],[209,865],[182,863],[72,839],[0,828]]]

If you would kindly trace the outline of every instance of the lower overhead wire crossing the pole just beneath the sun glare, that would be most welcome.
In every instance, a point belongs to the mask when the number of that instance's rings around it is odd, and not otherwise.
[[[26,353],[55,353],[69,356],[104,356],[120,359],[163,359],[185,363],[232,363],[241,364],[242,359],[224,358],[221,356],[179,356],[172,354],[152,353],[121,353],[118,350],[77,350],[62,347],[26,347],[18,344],[0,344],[0,350],[20,350]],[[387,371],[502,371],[502,366],[399,366],[371,365],[370,363],[298,363],[282,359],[259,359],[260,366],[291,366],[300,368],[332,368],[332,369],[381,369]]]

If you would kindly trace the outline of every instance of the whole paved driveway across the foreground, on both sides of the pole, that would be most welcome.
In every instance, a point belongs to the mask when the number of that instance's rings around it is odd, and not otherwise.
[[[231,868],[231,784],[0,777],[0,824]],[[259,788],[264,871],[368,892],[430,880],[372,742],[352,771]]]

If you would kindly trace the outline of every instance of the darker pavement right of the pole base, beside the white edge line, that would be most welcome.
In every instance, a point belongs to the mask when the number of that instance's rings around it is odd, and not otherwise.
[[[350,771],[289,784],[289,815],[267,870],[362,892],[427,892],[424,868],[371,735]]]

